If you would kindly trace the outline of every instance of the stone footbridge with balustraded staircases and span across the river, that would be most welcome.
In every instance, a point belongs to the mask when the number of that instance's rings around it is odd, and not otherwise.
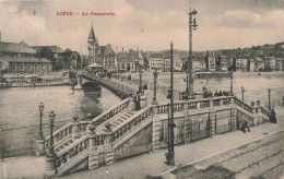
[[[74,117],[73,122],[52,134],[59,176],[110,165],[167,146],[170,109],[167,103],[144,104],[137,111],[129,95],[134,90],[91,74],[83,74],[83,79],[96,81],[125,99],[94,119],[79,121]],[[244,121],[257,126],[268,121],[270,116],[263,107],[249,106],[235,96],[179,100],[175,103],[174,111],[175,144],[238,130]],[[48,152],[50,136],[45,138],[44,144]]]

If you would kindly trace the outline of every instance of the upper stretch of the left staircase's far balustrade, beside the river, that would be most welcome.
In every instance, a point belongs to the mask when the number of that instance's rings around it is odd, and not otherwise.
[[[116,106],[107,109],[106,111],[104,111],[103,114],[97,116],[95,119],[93,119],[93,121],[96,122],[96,126],[102,124],[103,122],[107,121],[111,117],[116,116],[120,111],[122,111],[126,108],[128,108],[129,100],[130,100],[130,98],[126,98],[125,100],[120,102]]]

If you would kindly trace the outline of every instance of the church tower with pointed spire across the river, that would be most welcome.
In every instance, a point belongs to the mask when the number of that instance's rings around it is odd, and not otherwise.
[[[98,41],[95,37],[93,23],[87,38],[87,50],[88,50],[88,58],[91,59],[91,63],[94,63],[95,57],[97,56],[97,51],[98,51]]]

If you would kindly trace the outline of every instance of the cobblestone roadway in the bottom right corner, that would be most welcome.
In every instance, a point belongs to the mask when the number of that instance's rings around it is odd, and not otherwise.
[[[284,131],[180,167],[166,176],[175,178],[271,178],[283,176]],[[173,176],[171,176],[173,177]],[[166,178],[164,176],[164,178]]]

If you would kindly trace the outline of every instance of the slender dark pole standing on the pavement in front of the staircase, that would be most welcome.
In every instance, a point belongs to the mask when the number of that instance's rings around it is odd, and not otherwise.
[[[175,143],[174,143],[174,128],[175,128],[175,122],[174,122],[174,67],[173,67],[173,43],[170,44],[170,117],[168,118],[168,152],[166,153],[166,164],[174,166],[175,165]]]

